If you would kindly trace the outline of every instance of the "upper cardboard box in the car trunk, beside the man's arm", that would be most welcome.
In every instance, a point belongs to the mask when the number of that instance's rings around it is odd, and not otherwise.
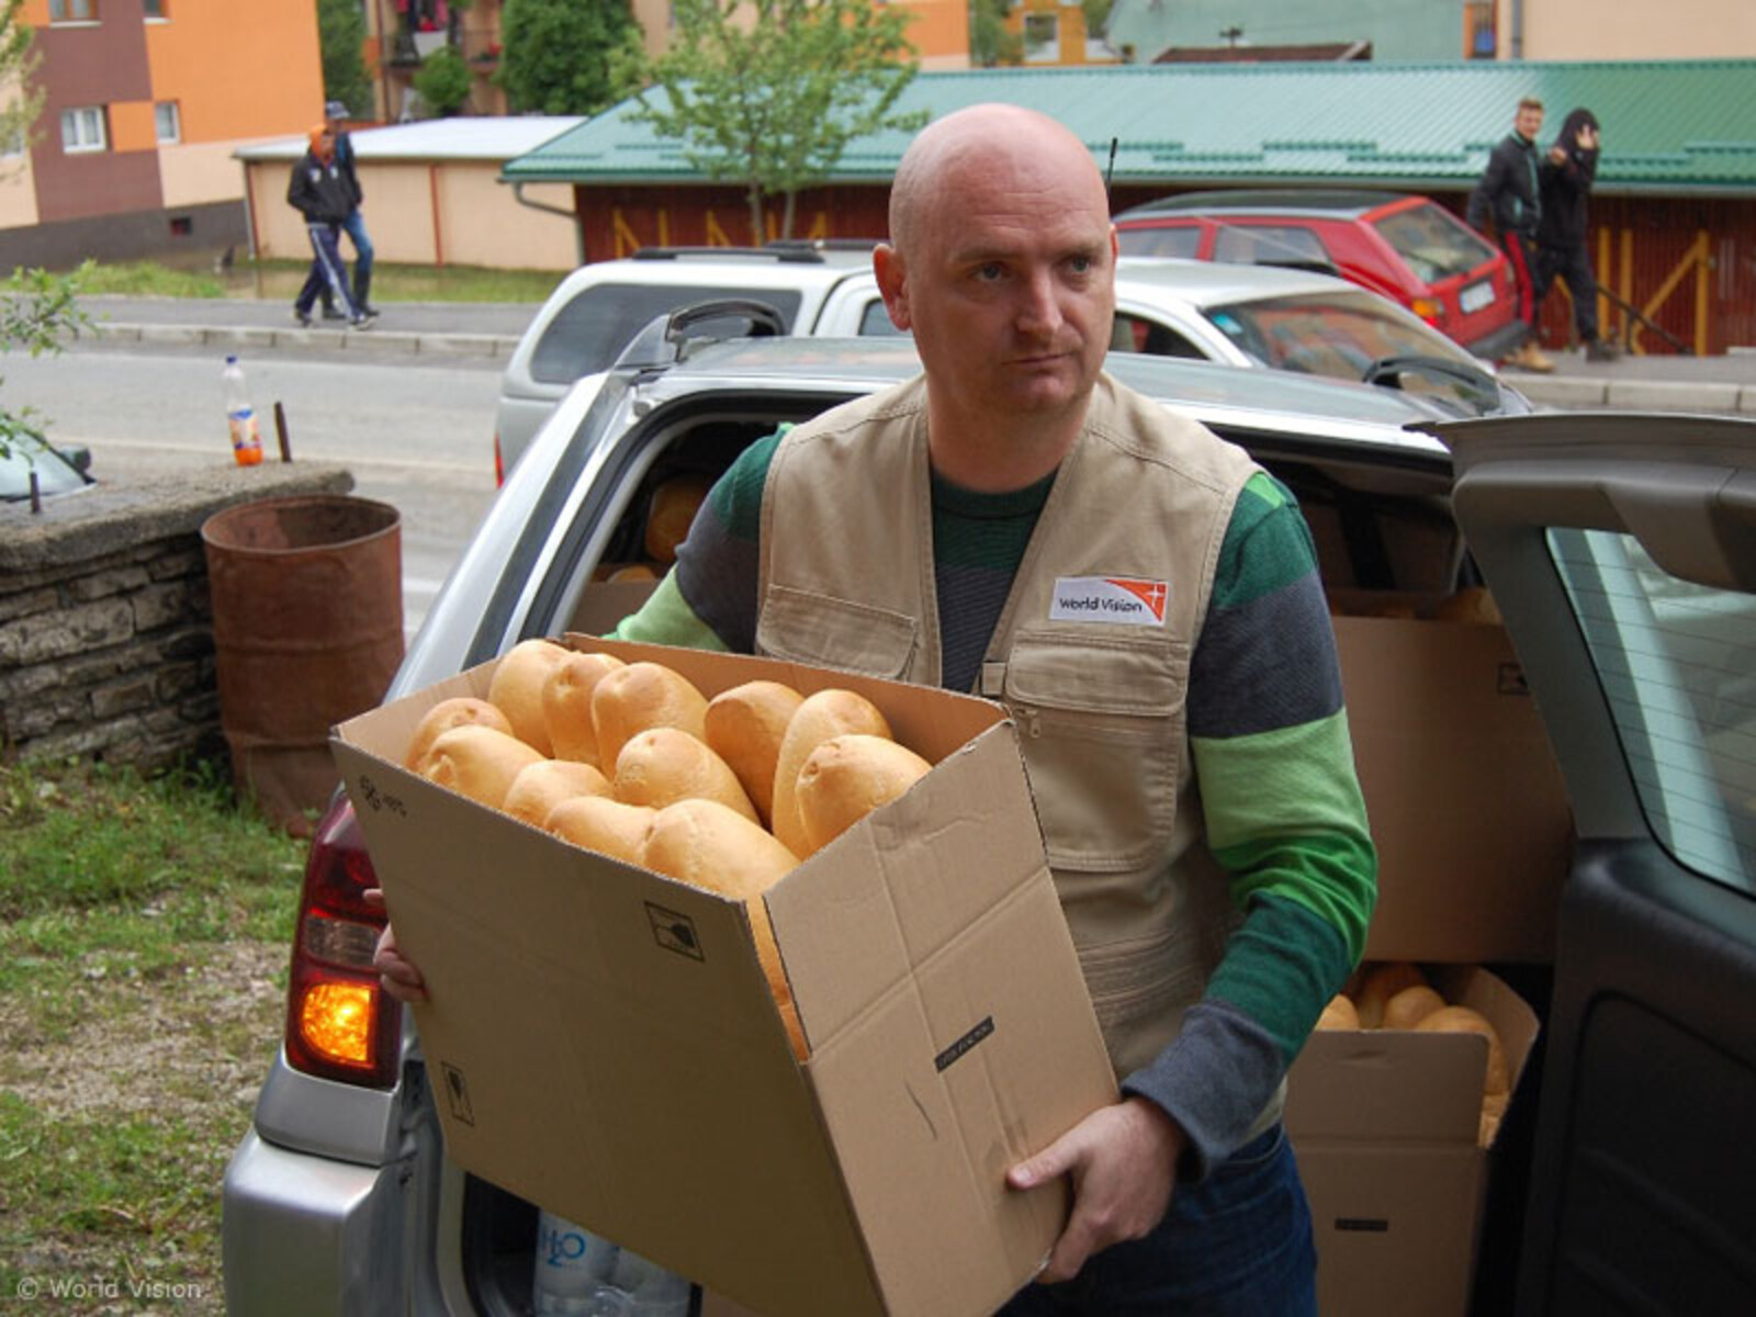
[[[1378,846],[1366,959],[1552,961],[1573,817],[1505,629],[1336,616],[1335,639]]]

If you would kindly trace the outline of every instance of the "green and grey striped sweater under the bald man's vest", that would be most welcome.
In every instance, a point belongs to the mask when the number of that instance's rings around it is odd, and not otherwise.
[[[620,639],[750,653],[762,488],[780,435],[725,472],[676,569]],[[976,493],[934,476],[945,685],[971,690],[1054,476]],[[1206,839],[1243,913],[1178,1040],[1122,1078],[1191,1136],[1189,1173],[1222,1161],[1271,1101],[1322,1006],[1357,964],[1377,857],[1354,776],[1335,637],[1310,529],[1257,474],[1226,530],[1189,673],[1189,739]]]

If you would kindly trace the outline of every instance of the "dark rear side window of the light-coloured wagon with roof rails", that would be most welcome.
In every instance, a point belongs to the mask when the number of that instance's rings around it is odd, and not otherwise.
[[[692,302],[709,302],[720,299],[748,299],[767,302],[780,311],[792,332],[799,318],[801,297],[787,288],[697,288],[692,284],[639,284],[639,283],[601,283],[592,284],[560,309],[550,327],[543,332],[536,351],[530,355],[530,378],[544,385],[571,385],[579,376],[602,371],[623,348],[629,339],[646,328],[655,316],[667,314]],[[720,325],[716,320],[704,320],[690,332],[699,337],[715,334],[743,334],[746,327],[743,316],[727,316]]]

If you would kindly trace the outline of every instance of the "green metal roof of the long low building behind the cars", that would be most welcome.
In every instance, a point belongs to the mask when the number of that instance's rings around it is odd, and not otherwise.
[[[1521,97],[1544,140],[1584,105],[1603,125],[1600,193],[1756,197],[1756,60],[1212,63],[920,74],[899,109],[934,118],[985,100],[1052,114],[1119,183],[1473,184]],[[506,163],[513,183],[685,183],[674,140],[634,102]],[[889,183],[908,133],[852,144],[831,183]]]

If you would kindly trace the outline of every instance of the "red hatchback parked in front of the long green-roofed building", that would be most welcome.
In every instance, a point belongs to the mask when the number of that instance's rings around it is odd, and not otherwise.
[[[1512,267],[1428,197],[1398,191],[1189,191],[1115,218],[1122,253],[1340,274],[1401,302],[1475,356],[1522,337]]]

